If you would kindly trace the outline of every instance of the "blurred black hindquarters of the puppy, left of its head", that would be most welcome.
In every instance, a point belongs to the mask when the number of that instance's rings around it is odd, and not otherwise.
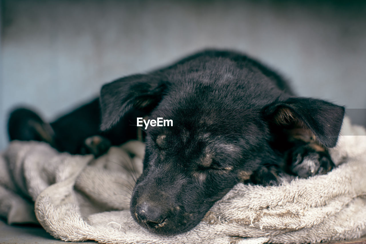
[[[44,122],[36,112],[27,108],[17,108],[10,114],[8,133],[10,140],[44,141],[60,152],[100,156],[111,145],[137,139],[137,128],[131,129],[130,121],[143,115],[143,112],[134,110],[117,126],[102,132],[99,98],[51,123]]]

